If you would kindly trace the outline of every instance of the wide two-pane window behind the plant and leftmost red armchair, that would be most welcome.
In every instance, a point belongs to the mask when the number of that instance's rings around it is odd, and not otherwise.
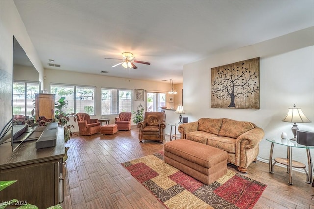
[[[64,113],[88,113],[95,115],[95,87],[69,86],[51,84],[50,92],[55,94],[55,100],[65,97],[68,106]]]

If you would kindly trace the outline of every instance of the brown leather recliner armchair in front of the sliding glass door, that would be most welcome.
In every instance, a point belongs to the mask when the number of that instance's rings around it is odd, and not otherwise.
[[[164,112],[145,112],[144,121],[137,123],[138,139],[163,142],[165,139],[166,114]]]

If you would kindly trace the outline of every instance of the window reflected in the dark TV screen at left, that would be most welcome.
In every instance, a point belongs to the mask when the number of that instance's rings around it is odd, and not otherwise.
[[[39,83],[13,81],[13,115],[32,116],[35,109],[35,93],[39,93]]]

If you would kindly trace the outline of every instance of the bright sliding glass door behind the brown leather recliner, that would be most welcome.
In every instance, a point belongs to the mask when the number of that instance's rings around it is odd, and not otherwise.
[[[162,112],[163,106],[166,106],[166,93],[146,92],[146,111]]]

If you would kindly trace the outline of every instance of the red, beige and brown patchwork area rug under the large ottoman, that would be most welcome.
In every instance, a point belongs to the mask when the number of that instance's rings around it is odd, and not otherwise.
[[[121,163],[169,209],[251,209],[265,184],[228,169],[210,185],[163,161],[163,152]]]

